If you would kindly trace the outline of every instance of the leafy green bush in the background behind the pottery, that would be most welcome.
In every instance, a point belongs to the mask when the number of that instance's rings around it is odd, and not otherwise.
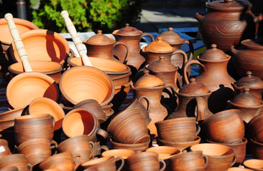
[[[141,7],[146,0],[41,0],[40,7],[33,11],[33,23],[39,28],[67,32],[60,16],[68,11],[77,31],[109,33],[139,22]]]

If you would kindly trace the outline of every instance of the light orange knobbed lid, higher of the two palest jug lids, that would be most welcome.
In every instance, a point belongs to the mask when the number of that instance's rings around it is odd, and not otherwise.
[[[153,41],[149,43],[144,49],[147,52],[153,52],[153,53],[169,53],[173,52],[175,49],[166,43],[165,41],[162,41],[162,37],[158,36],[156,38],[156,41]]]

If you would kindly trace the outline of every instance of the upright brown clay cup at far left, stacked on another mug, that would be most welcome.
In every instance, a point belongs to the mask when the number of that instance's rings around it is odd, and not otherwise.
[[[15,118],[14,135],[18,145],[33,138],[53,139],[53,117],[49,114],[23,115]]]

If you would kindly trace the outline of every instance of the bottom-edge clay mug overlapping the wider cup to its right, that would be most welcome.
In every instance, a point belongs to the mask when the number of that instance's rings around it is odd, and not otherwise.
[[[202,151],[190,151],[176,155],[170,158],[171,170],[188,171],[188,170],[205,170],[208,164],[208,157],[203,155]]]

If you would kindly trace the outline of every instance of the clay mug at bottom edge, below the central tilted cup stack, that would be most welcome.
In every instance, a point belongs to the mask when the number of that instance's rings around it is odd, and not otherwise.
[[[139,152],[131,155],[127,158],[129,163],[129,170],[165,170],[166,162],[159,159],[159,154],[157,152]]]

